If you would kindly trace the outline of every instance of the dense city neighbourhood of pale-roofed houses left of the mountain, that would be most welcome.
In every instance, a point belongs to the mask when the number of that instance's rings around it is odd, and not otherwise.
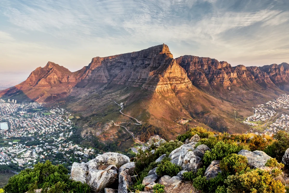
[[[95,157],[93,148],[68,140],[73,135],[72,117],[61,108],[46,109],[36,102],[17,104],[0,99],[0,165],[21,170],[52,160],[70,169],[74,161]]]

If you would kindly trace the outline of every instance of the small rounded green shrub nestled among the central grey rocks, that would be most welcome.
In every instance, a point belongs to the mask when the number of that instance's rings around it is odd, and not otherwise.
[[[171,163],[170,161],[162,161],[156,172],[159,176],[176,176],[179,171],[181,171],[181,166]]]

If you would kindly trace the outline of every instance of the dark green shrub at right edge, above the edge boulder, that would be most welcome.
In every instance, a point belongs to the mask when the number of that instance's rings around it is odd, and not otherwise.
[[[285,151],[289,148],[289,134],[285,131],[278,131],[274,135],[274,138],[276,141],[267,146],[264,152],[269,156],[276,158],[278,162],[281,162]]]

